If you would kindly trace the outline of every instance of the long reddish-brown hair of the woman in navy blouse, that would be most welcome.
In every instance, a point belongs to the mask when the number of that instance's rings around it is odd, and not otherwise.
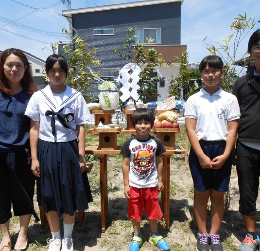
[[[6,58],[11,54],[18,56],[23,61],[24,66],[27,66],[23,78],[21,79],[21,86],[23,90],[27,91],[30,94],[33,94],[35,92],[35,84],[33,81],[28,59],[21,50],[15,48],[6,49],[0,55],[0,91],[7,95],[12,95],[12,90],[8,85],[8,81],[3,70],[3,65],[6,61]]]

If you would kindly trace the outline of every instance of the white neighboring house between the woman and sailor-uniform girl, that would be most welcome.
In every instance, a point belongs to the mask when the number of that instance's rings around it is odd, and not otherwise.
[[[33,80],[34,83],[36,85],[37,90],[40,90],[42,88],[44,88],[45,86],[48,85],[48,82],[45,81],[45,79],[43,78],[41,72],[43,72],[43,70],[45,69],[45,61],[30,54],[27,53],[25,51],[22,51],[25,56],[27,57],[29,64],[30,64],[30,68],[31,68],[31,72],[33,75]],[[2,51],[0,51],[0,54],[2,53]]]

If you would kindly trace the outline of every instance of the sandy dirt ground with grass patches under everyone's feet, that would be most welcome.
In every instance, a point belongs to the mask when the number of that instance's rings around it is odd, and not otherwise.
[[[75,250],[128,250],[128,245],[132,236],[132,224],[131,221],[126,218],[127,202],[123,194],[121,157],[109,156],[108,159],[109,201],[106,232],[101,233],[99,163],[96,162],[89,174],[94,202],[89,204],[89,210],[86,211],[86,220],[83,229],[78,229],[78,222],[76,219],[73,231]],[[194,251],[197,228],[191,219],[193,210],[193,186],[189,166],[184,164],[184,156],[175,156],[171,160],[170,185],[171,228],[170,231],[166,231],[163,227],[163,222],[160,221],[158,228],[159,233],[165,237],[173,251]],[[237,176],[235,168],[233,168],[230,180],[230,206],[225,213],[220,231],[225,251],[238,250],[238,246],[245,234],[242,216],[238,212],[238,200],[239,191]],[[37,208],[36,205],[35,202],[35,208]],[[259,209],[258,203],[258,211]],[[18,225],[18,217],[13,217],[11,220],[13,243],[15,243],[17,238]],[[42,251],[48,249],[48,240],[51,237],[50,230],[48,229],[45,233],[41,233],[40,230],[40,224],[35,223],[34,219],[32,219],[29,227],[29,251]],[[257,215],[257,230],[260,230],[259,213]],[[144,244],[140,250],[156,251],[156,247],[153,247],[148,243],[149,225],[145,215],[143,215],[141,223],[141,233],[144,238]]]

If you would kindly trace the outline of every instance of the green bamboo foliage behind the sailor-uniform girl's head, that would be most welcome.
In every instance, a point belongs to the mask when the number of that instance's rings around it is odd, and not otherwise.
[[[76,30],[71,28],[74,32]],[[66,36],[69,32],[66,29],[62,30]],[[52,53],[55,54],[58,43],[52,44]],[[87,71],[88,68],[100,66],[100,60],[95,59],[93,54],[96,54],[97,49],[93,47],[92,52],[87,48],[85,40],[77,33],[71,37],[71,43],[63,46],[63,55],[66,57],[69,66],[69,74],[66,79],[66,84],[83,93],[90,88],[90,80],[98,79],[99,72]],[[44,78],[50,82],[46,73],[43,72]],[[87,101],[93,97],[87,97]]]

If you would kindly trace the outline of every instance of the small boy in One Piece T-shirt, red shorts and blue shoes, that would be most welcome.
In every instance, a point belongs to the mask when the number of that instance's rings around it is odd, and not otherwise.
[[[136,135],[128,139],[121,149],[123,155],[124,195],[128,198],[127,217],[132,219],[134,236],[129,251],[138,251],[143,243],[140,221],[143,209],[151,228],[149,242],[160,250],[171,250],[169,244],[157,232],[157,220],[162,217],[158,191],[163,189],[163,161],[165,148],[158,138],[149,133],[155,116],[150,109],[139,108],[133,112],[132,125]]]

